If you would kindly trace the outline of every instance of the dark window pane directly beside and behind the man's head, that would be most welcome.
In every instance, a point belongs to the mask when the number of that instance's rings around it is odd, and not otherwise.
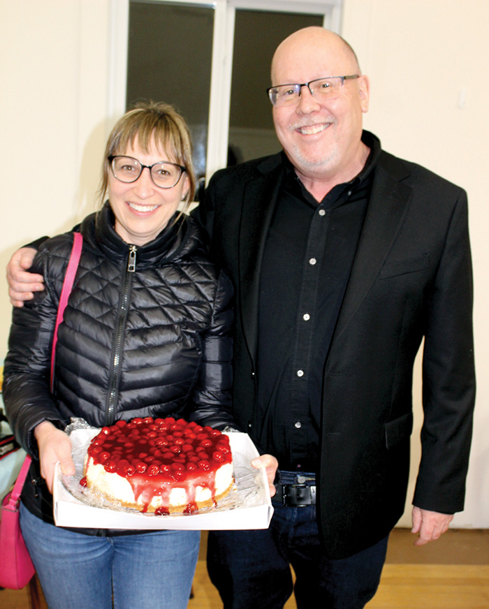
[[[275,49],[293,31],[323,25],[323,15],[236,10],[228,164],[278,152],[270,87]]]

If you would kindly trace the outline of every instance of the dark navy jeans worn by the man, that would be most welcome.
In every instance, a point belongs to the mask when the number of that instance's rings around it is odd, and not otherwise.
[[[274,503],[274,509],[268,529],[209,532],[207,568],[224,609],[282,609],[292,592],[298,609],[362,609],[377,592],[388,538],[352,557],[330,560],[319,539],[315,506]]]

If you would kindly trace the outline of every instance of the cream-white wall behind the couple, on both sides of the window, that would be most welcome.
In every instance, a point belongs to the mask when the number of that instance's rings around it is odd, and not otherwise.
[[[119,0],[0,0],[0,163],[7,176],[1,185],[2,269],[21,244],[68,230],[94,209],[105,138],[116,114],[110,33],[117,6]],[[342,33],[372,80],[365,126],[389,152],[469,193],[479,388],[467,508],[455,518],[459,527],[489,527],[488,23],[486,0],[344,0]],[[0,318],[1,359],[10,324],[5,279]],[[418,375],[414,393],[415,471]],[[401,523],[406,526],[409,502]]]

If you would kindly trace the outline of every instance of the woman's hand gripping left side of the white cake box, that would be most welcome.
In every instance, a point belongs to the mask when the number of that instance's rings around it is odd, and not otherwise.
[[[52,493],[54,467],[58,461],[65,476],[75,474],[75,464],[71,458],[71,440],[49,421],[39,423],[34,430],[34,437],[39,448],[41,476],[45,479],[48,489]]]

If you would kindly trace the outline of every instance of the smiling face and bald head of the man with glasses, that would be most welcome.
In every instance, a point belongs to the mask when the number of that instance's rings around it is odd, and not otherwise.
[[[309,33],[310,34],[310,33]],[[358,73],[340,39],[296,36],[282,43],[272,64],[272,85]],[[273,108],[277,137],[299,174],[335,179],[356,161],[368,81],[345,80],[334,99],[318,100],[302,87],[297,103]]]

